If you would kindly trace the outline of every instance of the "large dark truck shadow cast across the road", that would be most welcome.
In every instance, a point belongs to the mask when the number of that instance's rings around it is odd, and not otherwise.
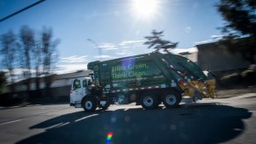
[[[220,143],[246,130],[251,112],[223,104],[182,104],[176,109],[142,108],[74,112],[30,129],[46,129],[18,143]]]

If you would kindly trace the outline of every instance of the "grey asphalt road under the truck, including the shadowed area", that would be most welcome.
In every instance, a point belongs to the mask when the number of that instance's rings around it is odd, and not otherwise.
[[[93,113],[28,105],[0,110],[0,143],[255,143],[255,114],[256,93],[150,111],[134,104]]]

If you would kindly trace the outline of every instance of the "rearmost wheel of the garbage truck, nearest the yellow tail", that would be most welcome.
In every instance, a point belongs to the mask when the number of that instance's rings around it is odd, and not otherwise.
[[[181,102],[181,99],[182,97],[179,93],[169,91],[165,93],[163,103],[167,108],[174,108],[179,105],[179,103]]]

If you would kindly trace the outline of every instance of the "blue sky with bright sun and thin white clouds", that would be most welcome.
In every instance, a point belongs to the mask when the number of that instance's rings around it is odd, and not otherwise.
[[[38,0],[0,0],[0,18]],[[55,73],[86,69],[90,61],[105,61],[153,51],[143,45],[152,30],[179,42],[173,53],[196,51],[196,44],[220,37],[223,20],[218,0],[46,0],[0,22],[0,35],[18,34],[22,25],[36,32],[52,28],[59,60]],[[0,57],[1,58],[1,57]],[[4,69],[0,65],[0,69]]]

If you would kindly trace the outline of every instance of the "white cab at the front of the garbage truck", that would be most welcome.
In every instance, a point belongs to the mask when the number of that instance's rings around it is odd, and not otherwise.
[[[79,77],[72,81],[70,88],[70,106],[82,107],[82,99],[91,93],[91,77]]]

